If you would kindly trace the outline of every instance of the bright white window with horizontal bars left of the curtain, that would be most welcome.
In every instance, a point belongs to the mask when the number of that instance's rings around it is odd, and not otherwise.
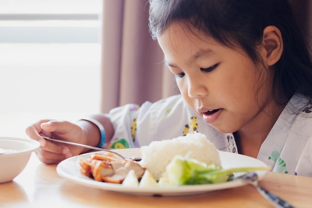
[[[0,1],[0,136],[100,112],[102,0]]]

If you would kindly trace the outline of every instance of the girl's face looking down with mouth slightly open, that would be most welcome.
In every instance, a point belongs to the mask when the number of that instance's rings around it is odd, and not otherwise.
[[[206,123],[230,133],[263,122],[274,105],[273,70],[178,23],[157,39],[184,100]]]

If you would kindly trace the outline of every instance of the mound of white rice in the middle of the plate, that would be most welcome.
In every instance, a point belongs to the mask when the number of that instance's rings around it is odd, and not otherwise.
[[[175,155],[185,156],[191,151],[189,158],[221,166],[219,151],[201,133],[187,134],[171,140],[154,141],[149,146],[141,147],[142,161],[140,165],[158,180],[166,166]]]

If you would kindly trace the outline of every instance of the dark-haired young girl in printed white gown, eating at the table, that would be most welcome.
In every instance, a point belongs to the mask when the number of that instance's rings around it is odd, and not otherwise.
[[[220,151],[257,158],[272,171],[312,177],[312,63],[286,0],[150,0],[150,29],[180,95],[129,104],[77,123],[26,129],[43,163],[88,150],[134,148],[201,132]],[[105,143],[104,143],[105,140]]]

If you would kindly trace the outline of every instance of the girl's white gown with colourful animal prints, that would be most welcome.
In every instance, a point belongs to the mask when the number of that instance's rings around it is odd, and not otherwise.
[[[297,109],[302,109],[300,113]],[[298,111],[298,110],[297,110]],[[312,177],[312,102],[294,95],[262,144],[257,159],[273,172]],[[106,148],[122,149],[149,145],[201,132],[220,151],[238,153],[232,133],[220,133],[187,107],[180,95],[141,107],[128,104],[109,114],[115,134]]]

